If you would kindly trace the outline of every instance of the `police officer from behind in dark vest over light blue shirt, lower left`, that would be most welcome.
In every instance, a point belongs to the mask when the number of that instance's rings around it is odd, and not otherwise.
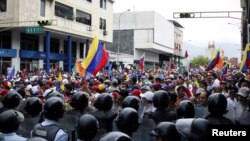
[[[64,112],[64,102],[61,98],[47,99],[44,105],[45,121],[35,125],[32,137],[43,137],[48,141],[68,141],[68,133],[58,124],[58,120],[63,117]]]

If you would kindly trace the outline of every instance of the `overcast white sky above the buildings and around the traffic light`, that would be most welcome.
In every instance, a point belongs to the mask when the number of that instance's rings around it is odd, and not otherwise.
[[[208,43],[215,42],[228,57],[240,57],[241,37],[239,19],[191,18],[174,19],[174,12],[241,11],[240,0],[116,0],[114,12],[155,11],[183,27],[184,49],[194,57],[204,53]],[[240,18],[240,14],[231,14]],[[230,23],[230,24],[228,24]],[[230,47],[229,47],[230,46]],[[194,52],[194,48],[197,50]]]

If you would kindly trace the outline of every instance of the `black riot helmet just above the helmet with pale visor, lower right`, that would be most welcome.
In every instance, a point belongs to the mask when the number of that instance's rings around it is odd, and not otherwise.
[[[177,108],[178,118],[194,118],[194,104],[190,100],[183,100]]]

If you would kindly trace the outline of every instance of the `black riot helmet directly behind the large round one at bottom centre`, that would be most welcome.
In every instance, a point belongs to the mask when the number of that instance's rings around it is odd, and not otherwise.
[[[122,108],[134,108],[136,111],[138,111],[140,107],[140,99],[136,96],[127,96],[123,101],[122,101]]]

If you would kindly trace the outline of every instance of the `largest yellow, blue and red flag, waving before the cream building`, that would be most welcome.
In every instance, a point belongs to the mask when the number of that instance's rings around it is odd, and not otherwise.
[[[94,37],[87,57],[82,62],[83,69],[86,72],[96,76],[96,74],[108,62],[108,53],[97,37]]]

